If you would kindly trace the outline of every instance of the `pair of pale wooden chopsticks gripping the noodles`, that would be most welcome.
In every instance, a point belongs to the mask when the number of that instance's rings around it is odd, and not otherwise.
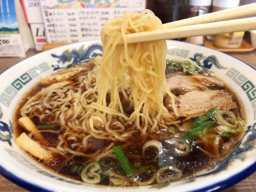
[[[127,34],[127,43],[254,30],[256,17],[252,16],[256,16],[256,3],[165,23],[163,29]]]

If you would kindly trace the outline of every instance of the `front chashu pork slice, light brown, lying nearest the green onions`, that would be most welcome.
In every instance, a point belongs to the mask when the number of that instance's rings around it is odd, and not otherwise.
[[[237,106],[226,90],[194,90],[177,98],[178,112],[182,117],[198,117],[212,107],[229,110]]]

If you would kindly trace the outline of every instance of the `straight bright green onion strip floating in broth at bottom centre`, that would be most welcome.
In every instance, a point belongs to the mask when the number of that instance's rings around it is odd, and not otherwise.
[[[115,151],[115,154],[117,156],[117,159],[118,161],[121,163],[123,169],[124,169],[124,172],[126,173],[126,175],[128,177],[131,177],[133,176],[135,173],[134,171],[132,170],[132,167],[129,163],[129,161],[127,160],[127,158],[125,157],[124,153],[123,153],[123,150],[121,149],[120,146],[114,146],[113,147],[113,150]]]

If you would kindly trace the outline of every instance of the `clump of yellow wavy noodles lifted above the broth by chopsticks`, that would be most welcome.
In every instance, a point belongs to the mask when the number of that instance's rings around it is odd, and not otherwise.
[[[126,34],[161,28],[161,20],[150,10],[141,13],[127,11],[124,18],[110,19],[103,26],[103,57],[94,87],[99,96],[96,103],[87,107],[94,108],[94,112],[108,111],[106,130],[115,116],[128,122],[136,122],[136,127],[142,134],[156,131],[159,126],[166,128],[164,124],[175,121],[163,105],[164,93],[169,94],[174,102],[165,78],[166,41],[127,44],[125,38]],[[117,45],[120,39],[123,39],[124,45]],[[130,95],[126,94],[127,87],[131,89]],[[119,92],[132,102],[134,112],[130,117],[124,116]],[[108,93],[109,104],[106,101]],[[174,111],[178,116],[177,110]],[[118,134],[116,138],[122,140],[123,137]]]

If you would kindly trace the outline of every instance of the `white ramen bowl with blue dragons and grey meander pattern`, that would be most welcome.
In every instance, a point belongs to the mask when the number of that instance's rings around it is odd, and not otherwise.
[[[242,101],[246,126],[241,140],[217,165],[193,177],[160,187],[118,188],[87,185],[47,170],[14,142],[13,115],[22,95],[42,77],[81,60],[102,54],[100,41],[70,44],[45,51],[7,69],[0,75],[0,172],[17,185],[33,191],[214,191],[244,179],[256,170],[256,71],[227,54],[203,46],[167,41],[167,59],[189,60],[222,79]]]

